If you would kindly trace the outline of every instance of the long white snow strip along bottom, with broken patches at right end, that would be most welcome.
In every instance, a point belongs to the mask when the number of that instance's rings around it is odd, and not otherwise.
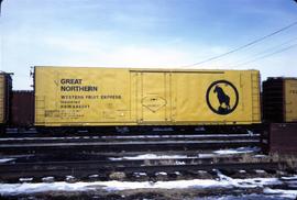
[[[128,189],[205,189],[205,188],[264,188],[266,193],[279,193],[297,197],[292,190],[272,190],[268,186],[282,185],[283,181],[276,178],[250,178],[250,179],[233,179],[218,173],[218,179],[193,179],[193,180],[175,180],[175,181],[95,181],[95,182],[42,182],[42,184],[0,184],[0,195],[13,196],[20,193],[36,193],[47,191],[89,191],[102,189],[106,191],[118,191]]]

